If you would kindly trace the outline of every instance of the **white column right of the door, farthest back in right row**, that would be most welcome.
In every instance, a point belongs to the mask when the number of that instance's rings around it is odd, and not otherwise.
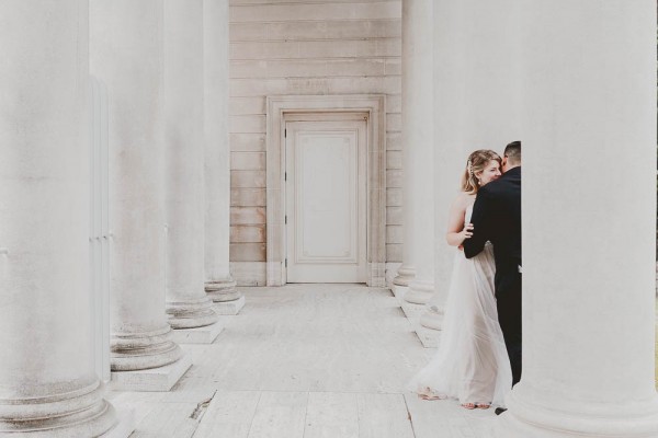
[[[424,304],[434,290],[432,1],[402,1],[402,171],[405,253],[415,268],[405,301]],[[402,275],[400,279],[404,279]],[[398,279],[398,283],[400,281]],[[394,280],[395,283],[395,280]]]

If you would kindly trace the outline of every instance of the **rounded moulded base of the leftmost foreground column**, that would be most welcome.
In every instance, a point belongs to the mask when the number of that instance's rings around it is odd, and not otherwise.
[[[101,437],[118,424],[100,381],[54,387],[59,393],[0,401],[0,436],[30,438]],[[70,387],[70,388],[69,388]],[[43,392],[45,389],[41,389]]]

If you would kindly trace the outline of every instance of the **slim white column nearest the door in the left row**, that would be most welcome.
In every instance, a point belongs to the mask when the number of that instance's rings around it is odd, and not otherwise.
[[[245,297],[229,270],[228,0],[204,0],[205,288],[220,314],[237,314]]]

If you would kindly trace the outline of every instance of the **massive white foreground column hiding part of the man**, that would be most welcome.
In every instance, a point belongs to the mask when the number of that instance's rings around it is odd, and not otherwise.
[[[497,436],[656,437],[656,2],[519,2],[523,373]]]

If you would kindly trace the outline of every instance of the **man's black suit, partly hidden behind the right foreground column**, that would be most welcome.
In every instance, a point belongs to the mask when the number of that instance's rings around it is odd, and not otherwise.
[[[512,367],[513,384],[521,380],[521,168],[481,187],[470,217],[473,237],[464,241],[467,258],[494,244],[498,321]]]

